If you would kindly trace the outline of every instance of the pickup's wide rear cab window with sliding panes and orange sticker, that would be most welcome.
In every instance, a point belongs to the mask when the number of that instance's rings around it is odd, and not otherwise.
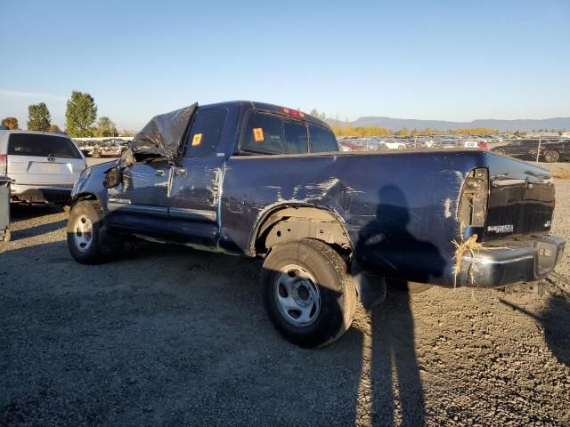
[[[245,155],[335,151],[338,143],[329,129],[261,111],[248,115],[240,140],[240,154]]]

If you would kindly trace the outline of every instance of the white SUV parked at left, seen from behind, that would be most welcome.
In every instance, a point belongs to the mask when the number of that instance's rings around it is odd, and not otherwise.
[[[85,167],[83,153],[65,135],[0,130],[0,175],[12,180],[12,200],[65,204]]]

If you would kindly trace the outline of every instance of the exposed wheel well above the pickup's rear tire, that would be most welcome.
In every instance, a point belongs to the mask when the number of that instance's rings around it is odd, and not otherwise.
[[[336,214],[317,207],[289,206],[269,214],[257,228],[255,254],[266,254],[273,246],[301,238],[322,240],[341,254],[351,251],[344,223]]]

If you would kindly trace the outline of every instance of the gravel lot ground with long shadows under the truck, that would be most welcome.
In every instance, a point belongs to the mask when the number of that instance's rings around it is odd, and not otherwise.
[[[570,181],[553,232],[570,238]],[[322,350],[269,325],[259,265],[140,244],[69,256],[58,209],[0,244],[0,425],[568,425],[569,256],[546,294],[392,293]]]

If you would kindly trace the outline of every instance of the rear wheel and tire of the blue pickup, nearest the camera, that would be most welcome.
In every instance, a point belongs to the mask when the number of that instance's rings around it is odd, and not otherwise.
[[[273,326],[300,347],[338,340],[354,319],[356,290],[346,262],[320,240],[304,238],[273,247],[265,258],[261,286]]]

